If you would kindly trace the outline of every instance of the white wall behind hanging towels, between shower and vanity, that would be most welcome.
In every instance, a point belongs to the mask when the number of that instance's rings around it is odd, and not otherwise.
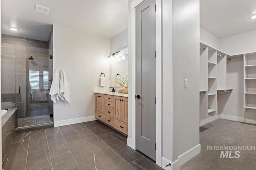
[[[109,78],[109,52],[107,37],[53,26],[53,69],[65,70],[72,93],[70,105],[54,104],[54,126],[95,119],[94,86],[100,86],[101,72]]]

